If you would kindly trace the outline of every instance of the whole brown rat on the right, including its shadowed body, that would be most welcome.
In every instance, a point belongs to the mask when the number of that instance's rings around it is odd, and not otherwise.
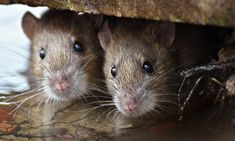
[[[202,48],[207,45],[204,37],[197,39],[200,30],[195,30],[195,39],[187,40],[194,32],[182,29],[174,23],[128,18],[110,18],[104,23],[98,37],[105,50],[105,79],[122,115],[154,113],[161,117],[178,112],[182,80],[178,70],[203,62],[206,49]],[[183,36],[176,37],[176,31]]]

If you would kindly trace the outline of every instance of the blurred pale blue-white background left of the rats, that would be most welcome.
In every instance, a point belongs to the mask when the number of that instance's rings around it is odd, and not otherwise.
[[[40,17],[47,9],[18,4],[0,5],[0,93],[29,88],[22,73],[27,69],[30,42],[21,28],[21,20],[27,11]]]

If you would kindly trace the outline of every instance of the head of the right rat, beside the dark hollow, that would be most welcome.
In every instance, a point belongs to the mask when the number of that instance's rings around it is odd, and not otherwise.
[[[140,117],[169,100],[173,23],[120,19],[106,21],[98,34],[105,50],[104,73],[117,109]]]

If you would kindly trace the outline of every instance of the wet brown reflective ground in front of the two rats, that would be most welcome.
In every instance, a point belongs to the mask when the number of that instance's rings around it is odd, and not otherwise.
[[[19,101],[20,99],[13,101]],[[8,106],[0,105],[0,140],[181,141],[195,139],[191,134],[192,132],[194,132],[194,135],[197,134],[198,137],[207,134],[205,132],[207,127],[205,127],[204,122],[201,123],[203,120],[198,116],[195,116],[196,123],[195,120],[185,123],[163,122],[159,119],[155,120],[153,117],[150,119],[143,117],[128,120],[115,115],[112,112],[113,107],[95,108],[96,106],[90,103],[80,102],[63,102],[38,106],[39,103],[34,101],[32,99],[23,105],[20,103]],[[18,107],[18,105],[21,106]],[[18,107],[18,109],[13,112],[15,107]],[[211,110],[215,109],[212,108]],[[211,115],[211,110],[206,110],[206,114]],[[228,112],[231,113],[231,110]],[[198,115],[199,113],[196,112],[195,114]],[[217,123],[217,121],[215,122]],[[207,141],[213,140],[213,136],[208,135]],[[200,138],[197,140],[200,140]]]

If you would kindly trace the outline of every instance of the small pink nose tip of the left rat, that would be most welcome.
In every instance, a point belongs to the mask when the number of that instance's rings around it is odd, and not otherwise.
[[[60,91],[65,91],[69,87],[69,81],[68,79],[58,76],[58,78],[55,80],[55,88]]]

